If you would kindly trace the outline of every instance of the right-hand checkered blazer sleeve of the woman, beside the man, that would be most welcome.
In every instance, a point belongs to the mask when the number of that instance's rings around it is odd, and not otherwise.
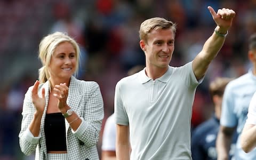
[[[83,87],[83,93],[89,92],[89,98],[86,98],[83,103],[85,106],[83,106],[84,115],[81,117],[82,124],[75,132],[73,130],[72,132],[86,146],[91,147],[98,143],[104,111],[99,85],[96,82],[85,82],[84,84],[86,83],[89,83],[90,87]],[[84,97],[86,96],[84,95]]]

